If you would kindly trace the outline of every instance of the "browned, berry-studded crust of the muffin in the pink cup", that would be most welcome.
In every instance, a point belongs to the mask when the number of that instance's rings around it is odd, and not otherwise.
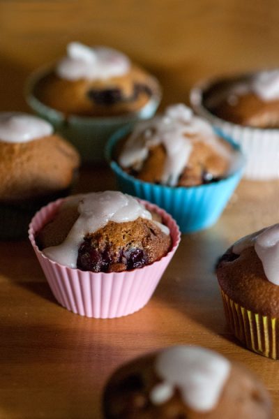
[[[36,240],[39,247],[45,249],[61,244],[78,216],[76,203],[63,207],[38,233]],[[167,254],[170,246],[171,237],[165,235],[153,220],[109,221],[95,233],[89,232],[84,236],[77,267],[93,272],[132,270],[159,260]]]

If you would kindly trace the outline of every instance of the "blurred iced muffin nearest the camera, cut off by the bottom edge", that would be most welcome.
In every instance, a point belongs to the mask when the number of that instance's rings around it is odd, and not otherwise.
[[[271,400],[247,369],[199,346],[171,346],[114,372],[105,419],[264,419]]]

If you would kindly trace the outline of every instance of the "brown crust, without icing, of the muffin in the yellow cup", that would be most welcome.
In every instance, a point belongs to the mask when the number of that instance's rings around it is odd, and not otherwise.
[[[220,288],[234,302],[264,316],[279,317],[279,287],[264,273],[254,247],[237,256],[230,248],[217,266]]]

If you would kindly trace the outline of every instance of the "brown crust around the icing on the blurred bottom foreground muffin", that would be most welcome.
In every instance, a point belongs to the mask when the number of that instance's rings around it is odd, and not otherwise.
[[[160,383],[154,372],[156,354],[129,362],[114,372],[103,396],[105,419],[268,419],[271,402],[262,383],[232,362],[218,405],[206,413],[193,411],[176,390],[169,401],[155,406],[149,395]]]

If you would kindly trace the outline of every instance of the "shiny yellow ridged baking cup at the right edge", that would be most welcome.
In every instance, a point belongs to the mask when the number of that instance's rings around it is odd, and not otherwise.
[[[263,316],[242,307],[221,290],[225,316],[234,335],[251,351],[279,358],[279,319]]]

